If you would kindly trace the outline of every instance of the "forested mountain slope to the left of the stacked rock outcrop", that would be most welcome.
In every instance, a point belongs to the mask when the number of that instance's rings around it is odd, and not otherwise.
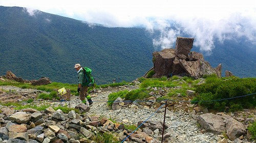
[[[22,13],[22,15],[24,14],[23,8],[16,9],[18,9],[18,12]],[[43,17],[44,14],[46,13],[40,12],[39,15]],[[149,44],[151,39],[145,36],[146,33],[142,28],[136,28],[135,31],[134,28],[90,27],[84,22],[71,18],[62,19],[61,16],[52,14],[46,14],[46,16],[48,19],[52,20],[52,24],[47,24],[46,22],[49,20],[38,18],[37,15],[36,17],[31,17],[27,14],[25,17],[27,21],[30,22],[30,19],[32,19],[34,20],[33,22],[38,22],[39,20],[41,24],[26,25],[29,22],[26,24],[19,23],[25,27],[28,26],[30,29],[30,32],[25,33],[25,35],[23,35],[22,32],[16,33],[19,37],[23,37],[23,39],[17,38],[15,35],[6,36],[3,32],[8,32],[10,26],[7,28],[2,27],[2,32],[0,32],[2,39],[0,61],[5,62],[6,65],[6,67],[3,67],[1,70],[2,74],[7,70],[11,70],[17,76],[22,76],[25,79],[36,79],[39,78],[39,73],[45,73],[43,76],[47,76],[53,81],[75,83],[77,75],[73,67],[74,64],[80,63],[82,66],[88,66],[93,69],[93,74],[96,79],[100,77],[101,80],[112,82],[112,79],[121,76],[118,73],[124,72],[124,69],[121,68],[123,64],[127,67],[125,71],[129,71],[129,73],[122,76],[121,80],[133,80],[135,79],[134,74],[142,76],[147,69],[152,67],[151,53],[154,47]],[[2,15],[1,18],[3,17]],[[18,18],[18,16],[16,17]],[[22,19],[22,21],[26,22],[24,19]],[[11,22],[3,23],[8,25],[8,23]],[[17,30],[15,26],[13,29],[14,31]],[[20,30],[25,29],[21,28]],[[17,32],[19,31],[17,30]],[[14,32],[10,32],[10,34],[14,34]],[[11,42],[15,40],[18,42]],[[13,45],[15,43],[18,44]],[[36,57],[34,58],[33,55]],[[136,55],[135,57],[137,59],[134,59],[134,55]],[[10,62],[12,60],[14,60],[15,63]],[[141,64],[138,64],[140,62]],[[62,66],[64,64],[67,65]],[[113,69],[110,69],[111,65],[113,65]],[[29,67],[33,66],[44,68],[40,70],[32,68],[31,70],[33,72],[31,72]],[[141,68],[141,66],[145,66],[147,69],[145,70],[145,67]],[[51,68],[54,70],[49,72]],[[56,70],[59,69],[68,72],[63,72],[61,76],[58,76]],[[133,71],[137,71],[138,73],[133,73]],[[40,76],[41,75],[42,74],[40,74]],[[75,80],[70,78],[72,75]],[[57,78],[54,76],[57,76]],[[59,78],[63,77],[69,79],[59,80]],[[105,77],[108,77],[108,79]],[[70,80],[72,81],[70,82]]]

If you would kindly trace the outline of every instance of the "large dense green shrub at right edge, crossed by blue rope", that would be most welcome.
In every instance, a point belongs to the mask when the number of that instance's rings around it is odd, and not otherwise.
[[[229,107],[230,111],[251,108],[256,106],[255,96],[250,95],[255,94],[255,87],[256,78],[231,78],[223,80],[207,77],[205,83],[196,86],[196,92],[199,93],[196,96],[196,100],[200,101],[199,105],[222,111],[225,110],[226,106]],[[193,101],[196,100],[193,99]],[[207,102],[203,102],[203,100]]]

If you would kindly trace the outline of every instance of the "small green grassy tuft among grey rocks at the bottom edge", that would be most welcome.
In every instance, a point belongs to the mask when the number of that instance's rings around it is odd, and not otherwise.
[[[98,133],[94,138],[97,143],[118,143],[118,137],[115,137],[111,132]]]

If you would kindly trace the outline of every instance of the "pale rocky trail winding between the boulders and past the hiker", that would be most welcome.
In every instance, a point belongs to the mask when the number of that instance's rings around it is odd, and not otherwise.
[[[16,94],[20,95],[36,95],[36,93],[40,93],[41,91],[32,90],[32,89],[20,89],[12,86],[0,86],[0,89],[5,91],[16,91]],[[159,121],[163,122],[164,120],[164,106],[162,108],[158,108],[159,106],[154,106],[154,104],[140,104],[133,105],[127,104],[123,105],[123,107],[113,110],[107,104],[109,94],[113,92],[117,92],[120,90],[133,90],[136,89],[135,86],[122,86],[117,88],[106,88],[100,89],[93,93],[91,93],[92,100],[94,101],[92,105],[90,105],[90,110],[87,112],[89,116],[100,116],[107,117],[108,119],[112,119],[119,123],[124,123],[127,125],[138,125],[139,121]],[[54,106],[69,106],[74,108],[77,104],[81,103],[79,97],[71,96],[71,101],[64,102],[53,102],[53,101],[34,101],[36,104],[52,104]],[[162,105],[164,102],[161,102]],[[223,140],[224,136],[222,134],[213,134],[208,133],[203,130],[197,120],[189,115],[187,112],[187,107],[193,107],[193,105],[189,103],[180,102],[179,104],[174,105],[175,109],[170,107],[167,108],[166,111],[166,119],[165,125],[168,127],[164,134],[168,135],[166,142],[202,142],[202,143],[221,143],[220,140]],[[178,110],[177,110],[178,108]],[[158,111],[156,111],[158,110]],[[154,138],[161,138],[162,134],[160,134],[159,130],[153,131]],[[224,141],[225,142],[225,141]],[[231,141],[227,139],[227,142],[249,142],[246,139],[244,140],[234,140]]]

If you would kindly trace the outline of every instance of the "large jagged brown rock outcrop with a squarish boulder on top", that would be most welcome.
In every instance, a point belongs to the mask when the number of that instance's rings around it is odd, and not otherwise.
[[[204,60],[202,53],[190,51],[193,48],[194,38],[177,37],[175,49],[163,49],[153,52],[155,71],[153,77],[172,75],[188,75],[199,78],[203,75],[216,74],[221,77],[221,64],[212,68]],[[147,74],[144,75],[147,77]]]

